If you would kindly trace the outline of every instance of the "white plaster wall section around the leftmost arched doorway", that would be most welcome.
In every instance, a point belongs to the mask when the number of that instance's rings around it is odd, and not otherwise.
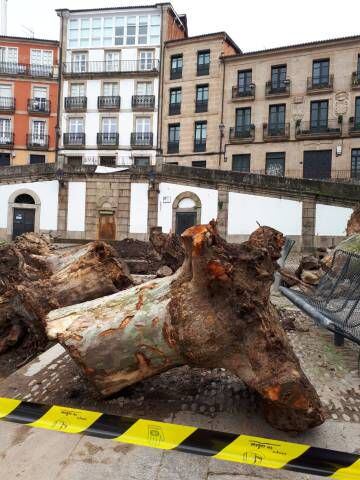
[[[0,186],[0,228],[7,228],[9,197],[17,190],[26,188],[40,198],[40,229],[57,230],[59,182],[17,183]]]

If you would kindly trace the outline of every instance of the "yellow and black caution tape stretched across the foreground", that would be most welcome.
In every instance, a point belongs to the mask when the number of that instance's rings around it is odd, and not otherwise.
[[[360,455],[300,443],[237,435],[196,427],[132,419],[76,408],[0,398],[0,419],[64,433],[82,433],[116,442],[177,450],[291,470],[338,480],[360,479]]]

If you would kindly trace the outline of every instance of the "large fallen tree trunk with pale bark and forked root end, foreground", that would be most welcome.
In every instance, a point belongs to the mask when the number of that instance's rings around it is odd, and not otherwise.
[[[320,400],[269,299],[283,236],[261,227],[230,245],[210,223],[183,240],[175,275],[53,311],[49,337],[105,396],[178,365],[223,367],[259,393],[273,426],[321,424]]]

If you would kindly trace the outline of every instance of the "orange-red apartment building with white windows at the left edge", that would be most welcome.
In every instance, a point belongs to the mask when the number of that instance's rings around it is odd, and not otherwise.
[[[55,161],[58,45],[0,36],[0,166]]]

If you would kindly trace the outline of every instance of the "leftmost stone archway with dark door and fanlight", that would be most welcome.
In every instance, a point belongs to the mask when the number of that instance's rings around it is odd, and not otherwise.
[[[8,200],[7,235],[15,238],[26,232],[40,232],[40,197],[31,189],[19,188]]]

